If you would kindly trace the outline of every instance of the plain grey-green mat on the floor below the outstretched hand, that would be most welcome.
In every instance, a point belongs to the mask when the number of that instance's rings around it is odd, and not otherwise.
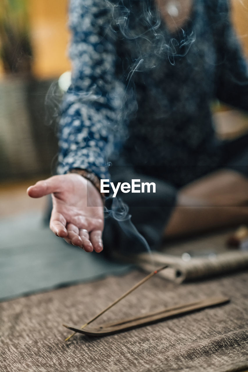
[[[0,300],[131,269],[109,262],[101,253],[70,246],[44,226],[38,212],[1,219],[0,231]]]

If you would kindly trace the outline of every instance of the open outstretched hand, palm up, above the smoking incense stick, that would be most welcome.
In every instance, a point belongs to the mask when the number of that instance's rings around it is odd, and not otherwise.
[[[86,252],[102,251],[103,203],[90,181],[79,174],[63,174],[38,181],[27,193],[31,198],[52,194],[50,229],[55,235]]]

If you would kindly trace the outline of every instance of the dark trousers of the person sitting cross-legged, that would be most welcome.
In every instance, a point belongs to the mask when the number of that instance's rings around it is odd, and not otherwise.
[[[204,176],[217,169],[232,169],[248,177],[248,135],[233,141],[221,142],[220,150],[222,157],[217,166],[213,167],[210,159],[209,168],[205,166],[202,171],[195,169],[197,174],[195,179],[199,174]],[[152,250],[156,250],[161,244],[166,223],[176,205],[180,187],[166,179],[163,167],[154,167],[155,176],[152,176],[150,168],[146,172],[146,167],[137,169],[119,161],[117,166],[113,165],[110,168],[110,173],[115,185],[117,182],[131,184],[132,179],[154,182],[156,193],[120,193],[118,195],[121,201],[118,196],[107,199],[108,212],[103,234],[105,254],[111,256],[113,250],[125,254],[143,252],[147,250],[146,242]]]

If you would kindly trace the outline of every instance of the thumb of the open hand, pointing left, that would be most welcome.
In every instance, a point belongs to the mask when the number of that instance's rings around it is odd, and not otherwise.
[[[31,196],[31,198],[41,198],[41,196],[60,192],[61,182],[58,178],[59,176],[53,176],[46,180],[38,181],[33,186],[29,186],[27,189],[28,196]]]

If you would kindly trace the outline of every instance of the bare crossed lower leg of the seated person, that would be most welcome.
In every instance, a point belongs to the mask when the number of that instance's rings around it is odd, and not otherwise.
[[[182,188],[165,237],[248,223],[248,178],[220,170]]]

